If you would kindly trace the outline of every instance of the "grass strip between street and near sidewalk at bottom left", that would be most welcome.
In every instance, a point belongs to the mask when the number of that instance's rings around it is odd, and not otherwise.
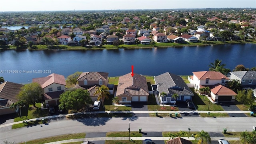
[[[61,140],[85,138],[85,136],[86,136],[85,133],[65,134],[65,135],[60,135],[60,136],[53,136],[53,137],[48,137],[48,138],[27,141],[26,144],[44,144],[44,143],[49,143],[49,142],[57,142],[57,141],[61,141]],[[25,142],[20,143],[20,144],[25,144]]]

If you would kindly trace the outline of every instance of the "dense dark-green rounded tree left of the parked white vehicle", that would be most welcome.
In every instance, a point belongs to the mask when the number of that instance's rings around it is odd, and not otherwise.
[[[86,106],[86,104],[92,104],[88,90],[72,89],[60,95],[60,108],[79,110]]]

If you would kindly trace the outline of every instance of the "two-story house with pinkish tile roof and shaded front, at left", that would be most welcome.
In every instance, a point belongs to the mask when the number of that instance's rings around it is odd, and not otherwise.
[[[33,78],[32,82],[37,82],[43,89],[46,107],[59,104],[60,94],[64,92],[66,86],[63,75],[53,73],[46,77]]]

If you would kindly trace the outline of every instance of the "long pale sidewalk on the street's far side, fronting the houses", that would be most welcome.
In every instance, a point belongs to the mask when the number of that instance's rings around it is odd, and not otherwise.
[[[29,120],[24,120],[24,121],[19,121],[19,122],[12,122],[9,124],[3,124],[0,125],[0,128],[5,127],[5,126],[12,126],[13,124],[20,124],[22,122],[30,122],[30,121],[35,121],[35,120],[42,120],[42,119],[50,119],[50,118],[60,118],[60,117],[65,117],[65,116],[74,116],[74,115],[78,115],[78,114],[102,114],[102,113],[114,113],[114,114],[118,114],[118,113],[179,113],[179,114],[187,114],[187,113],[250,113],[251,111],[242,111],[242,110],[230,110],[230,111],[201,111],[201,110],[190,110],[190,111],[96,111],[96,112],[77,112],[77,113],[73,113],[73,114],[59,114],[59,115],[54,115],[54,116],[45,116],[45,117],[41,117],[41,118],[32,118]]]

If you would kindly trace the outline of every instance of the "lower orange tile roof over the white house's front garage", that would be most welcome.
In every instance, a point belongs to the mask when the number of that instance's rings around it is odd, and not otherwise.
[[[221,84],[214,85],[214,88],[211,88],[211,92],[215,95],[219,96],[234,96],[236,93],[233,90],[230,90],[229,88],[222,86]]]

